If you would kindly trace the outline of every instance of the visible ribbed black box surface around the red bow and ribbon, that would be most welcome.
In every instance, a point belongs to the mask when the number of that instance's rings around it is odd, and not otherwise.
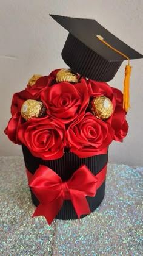
[[[34,157],[27,147],[22,146],[22,151],[24,154],[25,166],[32,174],[35,173],[39,165],[45,165],[55,171],[63,181],[70,179],[72,174],[79,168],[79,166],[85,164],[93,174],[98,174],[104,168],[105,164],[108,161],[108,152],[103,155],[96,155],[94,157],[79,158],[77,155],[72,152],[64,152],[63,157],[56,160],[42,160],[41,158]],[[101,187],[98,188],[95,197],[88,197],[87,201],[90,207],[91,212],[93,212],[99,204],[101,204],[105,194],[105,180],[102,183]],[[32,201],[38,206],[39,201],[32,193]],[[83,218],[86,215],[81,215]],[[62,205],[61,210],[59,211],[56,219],[77,219],[77,215],[73,205],[70,200],[65,200]]]

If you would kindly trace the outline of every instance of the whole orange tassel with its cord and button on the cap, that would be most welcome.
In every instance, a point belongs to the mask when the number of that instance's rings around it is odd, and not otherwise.
[[[128,65],[125,66],[125,78],[124,78],[124,90],[123,90],[123,108],[126,112],[128,112],[128,108],[130,107],[130,74],[131,74],[131,66],[130,66],[130,59],[123,54],[122,52],[118,51],[117,49],[113,48],[110,44],[104,41],[101,35],[96,35],[96,37],[113,51],[117,52],[118,54],[122,55],[128,60]]]

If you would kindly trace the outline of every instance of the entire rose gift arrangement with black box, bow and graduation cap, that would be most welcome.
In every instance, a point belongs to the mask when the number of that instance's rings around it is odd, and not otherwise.
[[[142,55],[95,20],[50,15],[69,35],[62,58],[70,69],[34,75],[13,95],[5,133],[21,144],[33,216],[77,219],[105,194],[108,146],[128,132],[130,59]],[[123,60],[124,93],[110,87]]]

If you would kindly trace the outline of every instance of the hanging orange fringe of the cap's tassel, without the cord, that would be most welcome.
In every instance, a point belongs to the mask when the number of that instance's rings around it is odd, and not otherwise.
[[[131,66],[128,63],[125,66],[125,78],[124,78],[124,91],[123,91],[123,108],[126,112],[128,112],[128,108],[130,107],[130,75],[131,75]]]

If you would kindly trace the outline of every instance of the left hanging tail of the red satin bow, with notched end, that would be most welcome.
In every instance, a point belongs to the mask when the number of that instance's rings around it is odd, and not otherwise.
[[[61,209],[62,204],[62,196],[57,197],[54,201],[50,202],[49,204],[39,204],[35,212],[33,213],[32,218],[35,216],[45,216],[48,224],[50,225],[55,216],[58,214],[59,210]]]

